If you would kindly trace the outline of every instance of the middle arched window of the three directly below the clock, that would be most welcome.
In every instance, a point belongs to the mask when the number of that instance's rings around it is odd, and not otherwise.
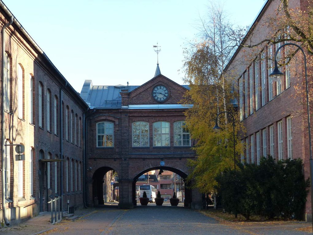
[[[170,123],[168,122],[153,123],[153,146],[157,147],[170,146]]]

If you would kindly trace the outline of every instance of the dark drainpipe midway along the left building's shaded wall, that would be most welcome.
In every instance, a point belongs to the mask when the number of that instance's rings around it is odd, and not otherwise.
[[[60,86],[59,92],[59,110],[60,110],[60,159],[63,160],[63,109],[62,109],[62,100],[63,100],[63,89],[67,86],[67,81],[63,86]],[[63,216],[63,161],[60,164],[61,174],[60,174],[60,195],[62,196],[62,200],[60,201],[61,205],[61,213]]]

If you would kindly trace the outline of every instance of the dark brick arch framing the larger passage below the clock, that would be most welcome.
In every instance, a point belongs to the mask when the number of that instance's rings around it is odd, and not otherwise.
[[[190,204],[192,202],[192,191],[191,191],[191,187],[189,185],[189,183],[186,181],[187,178],[187,174],[185,172],[182,172],[181,170],[178,170],[176,168],[173,167],[169,167],[169,166],[156,166],[156,167],[152,167],[152,168],[148,168],[144,171],[141,171],[138,175],[136,175],[134,177],[134,181],[132,184],[132,201],[134,206],[137,205],[137,200],[136,200],[136,182],[138,180],[138,178],[145,174],[146,172],[149,172],[151,170],[168,170],[168,171],[172,171],[175,174],[179,175],[180,177],[182,177],[184,183],[185,183],[185,200],[184,200],[184,206],[190,207]]]

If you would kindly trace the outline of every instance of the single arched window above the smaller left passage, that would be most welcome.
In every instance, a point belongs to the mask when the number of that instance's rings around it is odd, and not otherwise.
[[[97,123],[97,147],[113,146],[113,123]]]

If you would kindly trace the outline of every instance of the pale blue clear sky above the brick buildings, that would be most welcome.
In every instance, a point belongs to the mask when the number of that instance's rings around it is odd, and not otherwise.
[[[183,84],[183,48],[199,34],[208,0],[3,0],[78,92],[93,85],[139,86],[155,74]],[[264,0],[215,0],[231,22],[251,25]]]

